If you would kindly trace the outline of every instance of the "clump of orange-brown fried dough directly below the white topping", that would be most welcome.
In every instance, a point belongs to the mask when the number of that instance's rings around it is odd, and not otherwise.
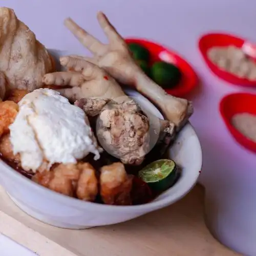
[[[32,180],[58,193],[84,201],[94,201],[98,193],[95,169],[90,163],[59,164],[50,171],[37,172]]]

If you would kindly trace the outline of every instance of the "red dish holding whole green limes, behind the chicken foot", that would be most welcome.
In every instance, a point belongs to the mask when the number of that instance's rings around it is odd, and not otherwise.
[[[182,97],[198,85],[198,77],[189,63],[175,51],[156,42],[126,38],[134,59],[167,93]]]

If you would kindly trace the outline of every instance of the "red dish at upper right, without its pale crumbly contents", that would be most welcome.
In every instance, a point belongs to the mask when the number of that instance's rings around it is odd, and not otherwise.
[[[215,46],[236,46],[241,48],[245,42],[245,39],[229,35],[229,34],[222,34],[222,33],[210,33],[203,35],[199,40],[199,50],[209,67],[209,69],[221,79],[232,83],[232,84],[239,84],[240,86],[256,86],[256,81],[250,81],[245,78],[239,78],[230,74],[229,72],[223,71],[219,69],[217,65],[212,63],[207,57],[207,51]]]

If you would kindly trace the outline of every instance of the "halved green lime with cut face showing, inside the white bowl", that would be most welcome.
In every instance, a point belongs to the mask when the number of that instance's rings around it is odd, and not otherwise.
[[[178,177],[178,169],[173,160],[161,159],[148,164],[139,171],[139,178],[155,191],[163,191],[172,186]]]

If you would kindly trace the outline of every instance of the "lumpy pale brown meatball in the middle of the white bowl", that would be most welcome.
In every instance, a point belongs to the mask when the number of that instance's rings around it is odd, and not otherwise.
[[[110,102],[96,124],[97,138],[106,152],[124,164],[140,165],[150,150],[150,124],[131,99]]]

